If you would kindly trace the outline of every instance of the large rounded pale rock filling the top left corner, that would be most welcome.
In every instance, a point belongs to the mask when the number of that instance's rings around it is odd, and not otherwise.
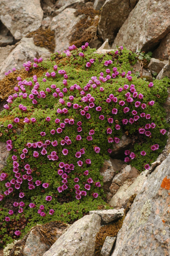
[[[15,39],[21,39],[41,26],[40,0],[1,0],[0,19]]]

